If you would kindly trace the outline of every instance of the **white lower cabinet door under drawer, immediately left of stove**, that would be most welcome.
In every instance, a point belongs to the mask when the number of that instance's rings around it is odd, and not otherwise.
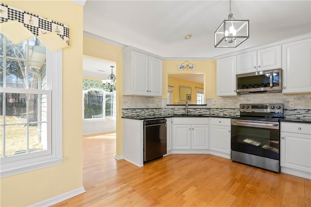
[[[210,150],[230,154],[231,149],[231,132],[230,127],[210,126]]]

